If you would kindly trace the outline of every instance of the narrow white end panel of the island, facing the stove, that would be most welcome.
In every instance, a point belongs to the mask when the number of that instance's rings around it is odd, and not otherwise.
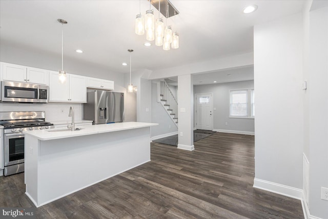
[[[39,141],[37,138],[25,135],[25,184],[26,184],[26,195],[30,200],[37,205],[37,164],[38,164],[38,146]]]

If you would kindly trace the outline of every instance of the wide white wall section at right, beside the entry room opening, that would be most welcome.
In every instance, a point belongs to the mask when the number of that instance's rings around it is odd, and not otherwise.
[[[254,27],[255,178],[298,189],[302,188],[302,46],[300,13]]]

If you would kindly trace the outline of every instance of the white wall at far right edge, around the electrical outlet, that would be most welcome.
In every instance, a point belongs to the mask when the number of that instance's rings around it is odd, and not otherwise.
[[[328,188],[328,7],[325,4],[310,12],[309,28],[310,213],[320,218],[328,218],[328,202],[320,198],[320,188]]]

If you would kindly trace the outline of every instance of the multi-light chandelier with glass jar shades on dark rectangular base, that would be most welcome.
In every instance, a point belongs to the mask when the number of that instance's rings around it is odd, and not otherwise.
[[[151,9],[153,5],[158,10],[158,18],[154,18],[154,10]],[[149,10],[146,11],[146,15],[141,14],[140,0],[139,0],[139,14],[135,18],[135,33],[138,35],[144,35],[146,30],[147,41],[154,41],[156,46],[163,46],[163,50],[170,50],[179,48],[179,34],[173,32],[172,26],[168,25],[168,18],[174,16],[179,12],[170,3],[169,0],[149,0]],[[160,14],[166,17],[166,25],[164,25],[163,18]]]

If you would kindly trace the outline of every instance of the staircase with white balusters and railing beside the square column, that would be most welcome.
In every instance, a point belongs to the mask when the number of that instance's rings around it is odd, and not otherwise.
[[[174,124],[178,126],[178,102],[165,79],[162,79],[158,84],[159,89],[157,88],[157,91],[159,92],[159,102],[170,115]]]

